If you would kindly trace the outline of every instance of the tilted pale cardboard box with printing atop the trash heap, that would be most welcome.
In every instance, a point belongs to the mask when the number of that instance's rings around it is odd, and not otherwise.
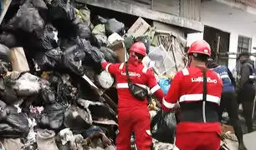
[[[128,33],[131,33],[134,37],[138,37],[143,35],[150,27],[151,26],[146,23],[145,20],[143,20],[142,18],[138,18],[136,20],[136,23],[133,23],[131,28],[129,28]]]

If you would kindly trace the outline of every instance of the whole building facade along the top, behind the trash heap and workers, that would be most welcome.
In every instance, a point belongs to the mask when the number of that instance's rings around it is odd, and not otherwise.
[[[146,18],[158,29],[210,43],[213,56],[233,70],[238,52],[256,52],[254,0],[76,0],[93,7]],[[118,13],[116,13],[118,15]],[[188,36],[189,33],[199,33]],[[202,36],[200,36],[202,34]],[[199,36],[198,36],[199,35]],[[191,41],[189,41],[191,43]],[[189,45],[187,45],[189,46]]]

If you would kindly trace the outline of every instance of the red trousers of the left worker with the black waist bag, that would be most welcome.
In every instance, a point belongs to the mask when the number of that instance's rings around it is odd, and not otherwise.
[[[150,129],[150,114],[147,107],[118,110],[117,150],[131,150],[131,133],[135,133],[138,150],[151,150],[152,139],[146,133]]]

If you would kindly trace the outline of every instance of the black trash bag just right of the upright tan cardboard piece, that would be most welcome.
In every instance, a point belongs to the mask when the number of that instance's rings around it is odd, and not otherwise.
[[[59,48],[51,49],[47,52],[38,52],[34,57],[39,69],[53,69],[62,61],[63,52]]]

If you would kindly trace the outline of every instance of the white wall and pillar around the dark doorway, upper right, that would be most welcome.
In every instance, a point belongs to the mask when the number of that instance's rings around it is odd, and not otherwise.
[[[207,26],[218,28],[224,32],[230,33],[229,52],[237,52],[238,36],[252,38],[251,52],[256,52],[256,15],[246,13],[245,11],[229,7],[220,2],[202,2],[201,20]],[[235,57],[235,56],[229,56]],[[235,59],[228,60],[228,67],[235,67]]]

